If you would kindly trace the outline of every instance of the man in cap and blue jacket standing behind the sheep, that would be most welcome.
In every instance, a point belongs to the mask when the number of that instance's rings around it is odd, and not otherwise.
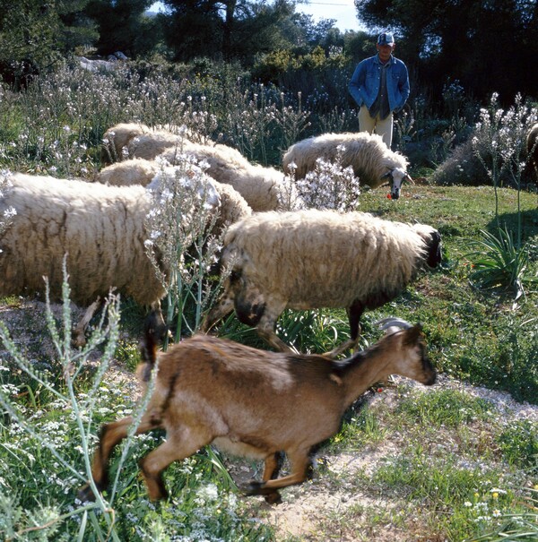
[[[383,32],[377,38],[377,55],[365,58],[351,77],[349,91],[360,107],[360,132],[376,133],[390,149],[393,113],[404,107],[409,98],[407,67],[392,54],[395,38]]]

